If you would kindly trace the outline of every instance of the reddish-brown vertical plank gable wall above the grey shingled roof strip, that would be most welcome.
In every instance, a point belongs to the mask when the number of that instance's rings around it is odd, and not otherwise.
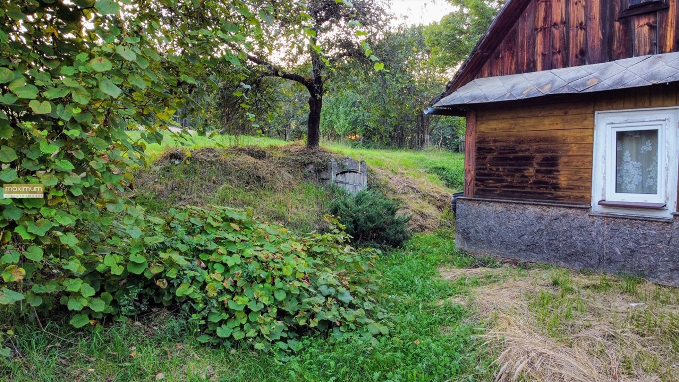
[[[476,78],[679,51],[679,0],[619,17],[627,0],[533,0]]]

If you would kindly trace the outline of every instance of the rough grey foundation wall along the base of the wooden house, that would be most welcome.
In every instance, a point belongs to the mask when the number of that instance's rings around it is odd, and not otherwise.
[[[477,254],[679,286],[679,216],[650,221],[593,216],[589,208],[462,198],[456,244]]]

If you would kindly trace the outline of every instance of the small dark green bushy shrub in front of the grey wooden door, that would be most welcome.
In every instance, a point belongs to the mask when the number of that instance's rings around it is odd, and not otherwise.
[[[384,246],[400,246],[410,236],[405,225],[411,216],[397,216],[399,202],[382,194],[360,191],[343,194],[331,204],[331,212],[339,216],[355,242]]]

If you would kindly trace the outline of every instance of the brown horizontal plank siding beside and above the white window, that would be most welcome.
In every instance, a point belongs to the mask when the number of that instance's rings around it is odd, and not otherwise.
[[[465,191],[589,204],[595,111],[667,106],[679,106],[679,83],[485,104],[473,112],[474,185]]]

